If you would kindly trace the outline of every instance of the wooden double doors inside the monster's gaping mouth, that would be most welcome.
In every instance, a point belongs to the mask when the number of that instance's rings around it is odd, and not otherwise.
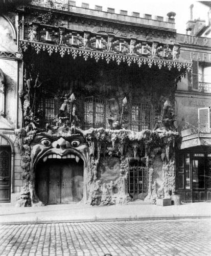
[[[44,204],[69,204],[83,198],[83,163],[50,160],[37,166],[36,193]]]

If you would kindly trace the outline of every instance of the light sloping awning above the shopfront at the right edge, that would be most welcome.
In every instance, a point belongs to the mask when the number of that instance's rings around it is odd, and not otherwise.
[[[184,136],[182,138],[182,143],[180,149],[189,148],[193,146],[211,146],[211,134],[209,133],[199,133],[192,134],[189,136]]]

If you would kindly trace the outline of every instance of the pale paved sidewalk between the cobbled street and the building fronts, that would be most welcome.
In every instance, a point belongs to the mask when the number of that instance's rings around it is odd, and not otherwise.
[[[158,206],[144,202],[127,205],[83,204],[19,208],[0,204],[0,224],[210,218],[211,203]]]

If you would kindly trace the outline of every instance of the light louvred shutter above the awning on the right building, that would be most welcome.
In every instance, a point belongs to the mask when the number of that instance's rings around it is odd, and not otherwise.
[[[198,109],[198,120],[199,120],[199,132],[209,133],[210,131],[209,108]]]

